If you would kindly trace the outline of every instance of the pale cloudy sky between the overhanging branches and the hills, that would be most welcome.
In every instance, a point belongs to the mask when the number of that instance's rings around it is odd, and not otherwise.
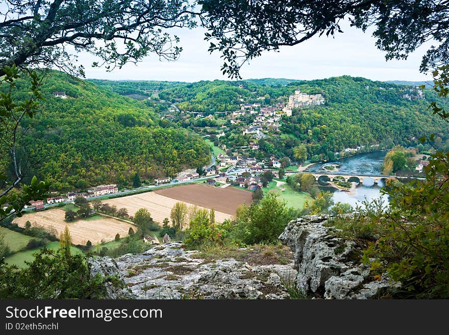
[[[279,53],[265,52],[261,57],[245,64],[241,70],[243,79],[288,78],[322,79],[338,75],[362,76],[371,80],[430,80],[429,74],[418,68],[422,55],[429,44],[421,46],[407,60],[385,61],[385,55],[375,46],[370,33],[343,25],[343,34],[335,38],[326,36],[310,39],[300,45],[283,47]],[[86,77],[111,80],[166,80],[195,82],[200,80],[225,79],[220,68],[219,54],[210,55],[209,43],[204,41],[201,29],[178,30],[183,52],[174,62],[159,61],[148,56],[138,65],[127,64],[122,69],[107,72],[103,68],[92,68],[93,58],[79,55],[85,64]]]

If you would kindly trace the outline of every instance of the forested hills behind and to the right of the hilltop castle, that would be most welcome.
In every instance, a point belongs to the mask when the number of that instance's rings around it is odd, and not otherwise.
[[[119,82],[119,85],[126,86],[126,83]],[[134,85],[129,83],[130,87]],[[154,82],[150,83],[155,86]],[[108,85],[116,84],[109,82]],[[346,75],[312,81],[268,78],[179,83],[162,89],[158,96],[184,111],[214,114],[239,110],[240,105],[247,102],[261,102],[265,106],[285,103],[296,89],[309,94],[320,93],[325,96],[326,104],[293,110],[293,116],[284,117],[282,124],[282,133],[290,136],[262,140],[261,154],[292,158],[293,147],[304,143],[309,158],[328,160],[344,148],[414,146],[419,143],[419,137],[432,133],[439,138],[436,144],[444,145],[448,139],[447,123],[428,109],[431,101],[447,106],[447,100],[438,98],[431,89],[422,93],[415,86]],[[188,126],[189,123],[182,124]],[[236,126],[230,126],[226,134],[227,145],[248,145],[250,136],[243,136],[241,130],[233,130],[233,127]]]

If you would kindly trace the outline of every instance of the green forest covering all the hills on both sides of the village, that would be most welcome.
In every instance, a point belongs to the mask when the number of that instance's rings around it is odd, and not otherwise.
[[[26,96],[27,82],[19,81],[17,87],[17,97]],[[295,148],[305,147],[303,160],[333,160],[335,152],[344,148],[363,146],[359,152],[364,152],[416,146],[419,137],[431,133],[437,146],[448,145],[447,123],[428,110],[430,101],[446,102],[431,90],[420,94],[413,86],[351,76],[313,81],[85,81],[52,71],[42,86],[45,100],[39,112],[23,124],[29,130],[21,139],[22,156],[33,165],[28,175],[51,182],[56,191],[103,183],[129,187],[136,173],[145,181],[207,164],[210,149],[194,134],[198,127],[226,126],[220,144],[228,148],[255,141],[225,116],[220,116],[222,121],[175,118],[170,122],[161,117],[167,104],[175,103],[181,111],[214,114],[238,110],[248,102],[285,104],[296,89],[320,93],[326,104],[293,109],[291,117],[283,116],[281,136],[267,134],[260,139],[260,149],[253,153],[257,158],[273,154],[297,160]],[[67,98],[55,97],[55,91],[65,92]],[[153,97],[136,101],[123,96],[133,94]],[[254,117],[241,119],[249,124]],[[3,157],[7,164],[7,155]]]

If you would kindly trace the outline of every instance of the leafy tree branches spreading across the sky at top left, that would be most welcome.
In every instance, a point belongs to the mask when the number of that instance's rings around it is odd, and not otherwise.
[[[192,28],[188,1],[52,0],[8,2],[0,11],[0,75],[5,66],[59,67],[83,74],[73,66],[75,51],[97,56],[108,70],[138,62],[149,53],[175,60],[181,48],[167,30]]]

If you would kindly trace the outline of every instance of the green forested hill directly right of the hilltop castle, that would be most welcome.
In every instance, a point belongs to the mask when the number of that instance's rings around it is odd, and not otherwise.
[[[431,101],[447,106],[432,90],[341,76],[304,82],[302,91],[321,90],[326,104],[303,108],[286,118],[283,132],[307,145],[308,156],[332,159],[343,148],[393,144],[416,146],[423,135],[448,139],[449,126],[432,115]]]

